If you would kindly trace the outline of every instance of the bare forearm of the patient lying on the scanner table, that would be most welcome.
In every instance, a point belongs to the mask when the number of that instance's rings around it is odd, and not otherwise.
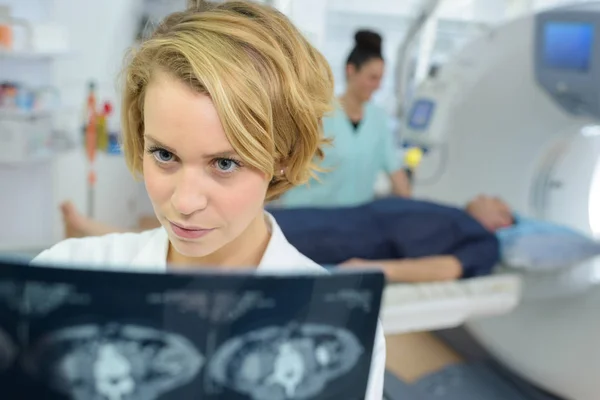
[[[390,282],[450,281],[462,276],[462,264],[454,256],[376,261],[352,259],[341,266],[380,268]]]

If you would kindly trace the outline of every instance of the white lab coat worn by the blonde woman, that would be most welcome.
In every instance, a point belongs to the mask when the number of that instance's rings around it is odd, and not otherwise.
[[[325,269],[301,254],[285,238],[275,219],[267,214],[271,222],[271,240],[258,265],[259,273],[277,271],[323,271]],[[83,239],[67,239],[49,250],[43,251],[34,264],[73,264],[75,267],[112,270],[135,270],[137,272],[166,272],[169,238],[163,228],[142,233],[116,233]],[[365,400],[383,398],[385,372],[385,339],[381,326],[373,349],[369,384]]]

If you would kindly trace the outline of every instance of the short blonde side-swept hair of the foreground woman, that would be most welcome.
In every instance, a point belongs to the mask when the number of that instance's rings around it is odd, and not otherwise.
[[[327,143],[322,118],[333,105],[327,61],[274,8],[190,3],[128,59],[122,126],[130,170],[143,173],[144,96],[162,70],[211,97],[235,151],[271,180],[266,200],[307,182],[319,171]]]

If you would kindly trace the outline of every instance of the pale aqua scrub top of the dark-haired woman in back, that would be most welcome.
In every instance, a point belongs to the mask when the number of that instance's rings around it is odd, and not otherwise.
[[[394,137],[385,111],[373,103],[365,105],[358,128],[341,107],[323,119],[325,137],[333,139],[320,164],[326,172],[319,180],[293,188],[277,206],[356,206],[375,199],[375,180],[380,172],[393,174],[401,168]]]

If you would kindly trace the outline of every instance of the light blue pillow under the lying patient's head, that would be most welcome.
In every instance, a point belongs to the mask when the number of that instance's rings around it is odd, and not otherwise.
[[[515,216],[515,224],[496,233],[504,265],[554,270],[600,255],[600,243],[574,229]]]

